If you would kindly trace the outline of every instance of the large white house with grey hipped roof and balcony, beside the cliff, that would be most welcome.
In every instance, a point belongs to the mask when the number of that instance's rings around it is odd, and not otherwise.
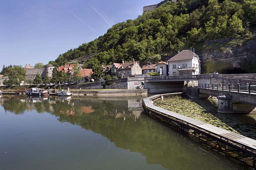
[[[178,54],[168,61],[170,75],[201,74],[199,56],[192,50],[178,51]]]

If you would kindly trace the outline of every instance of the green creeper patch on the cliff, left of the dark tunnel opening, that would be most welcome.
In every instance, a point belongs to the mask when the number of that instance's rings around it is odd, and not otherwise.
[[[203,74],[209,74],[214,72],[218,72],[219,74],[222,74],[224,71],[232,67],[233,65],[228,62],[222,62],[222,61],[207,62],[206,66],[202,67],[202,72]]]

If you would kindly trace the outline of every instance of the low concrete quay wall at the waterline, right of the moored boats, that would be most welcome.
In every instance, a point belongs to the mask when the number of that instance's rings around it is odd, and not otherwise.
[[[147,95],[147,89],[74,90],[73,96]]]

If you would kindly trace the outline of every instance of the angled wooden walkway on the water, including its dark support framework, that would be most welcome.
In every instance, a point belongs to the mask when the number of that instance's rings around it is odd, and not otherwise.
[[[175,124],[179,128],[187,133],[198,133],[215,141],[225,144],[226,150],[232,150],[237,153],[244,154],[243,159],[246,158],[246,163],[253,166],[255,169],[256,158],[256,140],[230,132],[228,130],[215,127],[213,125],[162,109],[154,105],[152,100],[162,98],[163,96],[170,96],[171,94],[154,95],[143,99],[143,108],[145,113],[160,117],[168,123]],[[228,149],[227,146],[231,149]],[[239,158],[238,158],[239,159]],[[243,161],[242,159],[240,159]],[[250,161],[250,163],[248,163]]]

